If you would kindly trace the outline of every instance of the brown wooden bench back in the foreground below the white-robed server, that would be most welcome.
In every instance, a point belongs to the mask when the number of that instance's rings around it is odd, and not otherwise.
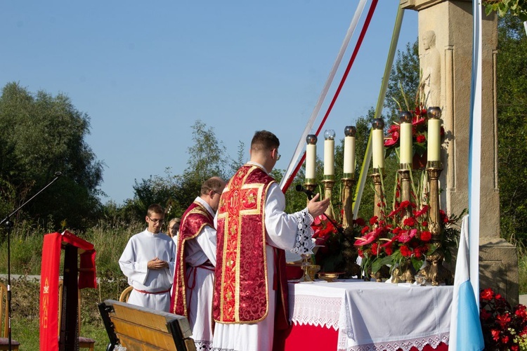
[[[99,311],[110,338],[108,351],[117,345],[127,351],[196,350],[186,317],[116,300],[100,303]]]

